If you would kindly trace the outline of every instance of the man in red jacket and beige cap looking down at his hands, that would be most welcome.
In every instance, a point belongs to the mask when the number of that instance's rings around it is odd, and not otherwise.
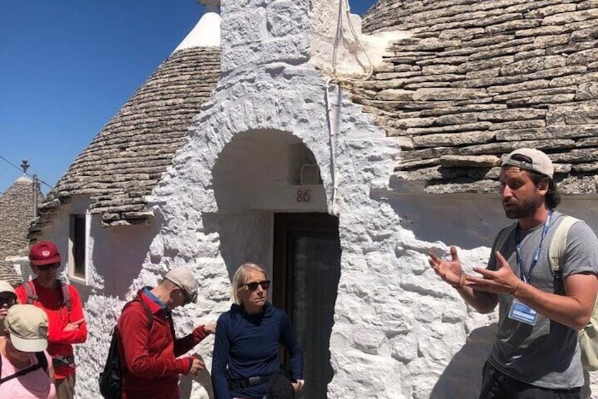
[[[197,376],[205,369],[193,355],[177,358],[216,332],[216,324],[209,323],[175,337],[171,311],[190,302],[197,302],[197,281],[190,270],[174,268],[125,307],[118,318],[120,358],[125,360],[122,399],[178,399],[178,376]]]

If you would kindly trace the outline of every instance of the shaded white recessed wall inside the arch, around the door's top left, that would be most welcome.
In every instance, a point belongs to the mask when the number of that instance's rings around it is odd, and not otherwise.
[[[219,252],[228,275],[245,261],[271,269],[275,212],[327,212],[319,181],[300,186],[302,165],[315,157],[293,134],[274,129],[237,133],[212,169],[216,209],[202,214],[206,230],[219,236]],[[310,201],[296,201],[295,189],[307,187]]]

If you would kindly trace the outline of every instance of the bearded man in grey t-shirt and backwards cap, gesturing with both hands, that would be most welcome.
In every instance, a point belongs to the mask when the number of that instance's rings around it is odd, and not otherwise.
[[[570,227],[562,279],[549,266],[548,249],[564,218],[554,167],[542,151],[520,148],[501,165],[506,216],[482,277],[465,275],[455,247],[451,261],[429,263],[477,311],[499,304],[499,330],[484,370],[480,399],[580,398],[583,374],[577,330],[590,320],[598,290],[598,239],[585,222]]]

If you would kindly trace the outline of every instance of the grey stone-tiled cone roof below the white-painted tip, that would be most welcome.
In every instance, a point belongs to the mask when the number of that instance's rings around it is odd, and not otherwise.
[[[153,217],[146,196],[183,145],[193,117],[220,77],[220,50],[174,52],[130,97],[73,162],[39,206],[35,238],[73,196],[89,196],[102,225],[133,225]]]

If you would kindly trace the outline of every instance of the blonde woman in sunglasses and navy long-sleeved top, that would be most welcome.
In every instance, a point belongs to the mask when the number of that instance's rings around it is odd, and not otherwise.
[[[303,387],[303,350],[288,316],[267,301],[269,287],[266,270],[257,263],[244,263],[233,276],[234,303],[218,319],[214,340],[216,399],[262,399],[274,385],[271,381],[279,386],[279,344],[291,363],[287,397]]]

